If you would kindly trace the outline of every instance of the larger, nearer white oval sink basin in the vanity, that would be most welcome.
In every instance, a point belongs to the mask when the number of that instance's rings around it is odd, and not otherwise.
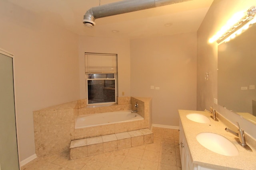
[[[218,154],[226,156],[236,156],[239,154],[238,149],[232,142],[216,133],[199,133],[196,135],[196,140],[205,148]]]

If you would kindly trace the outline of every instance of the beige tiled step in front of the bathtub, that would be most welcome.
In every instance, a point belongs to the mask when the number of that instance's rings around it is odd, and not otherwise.
[[[70,143],[70,160],[149,143],[153,143],[153,133],[149,129],[77,139]]]

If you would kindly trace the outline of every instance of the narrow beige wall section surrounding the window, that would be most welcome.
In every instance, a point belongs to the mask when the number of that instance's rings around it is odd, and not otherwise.
[[[130,41],[105,37],[79,37],[80,99],[86,98],[84,53],[117,54],[118,96],[130,96]],[[124,96],[122,96],[124,92]]]

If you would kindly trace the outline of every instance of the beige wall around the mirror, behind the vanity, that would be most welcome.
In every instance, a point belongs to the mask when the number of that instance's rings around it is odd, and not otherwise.
[[[214,0],[204,21],[197,31],[197,109],[203,110],[213,105],[217,98],[218,44],[208,43],[208,39],[224,25],[232,15],[241,10],[248,10],[256,5],[256,0]],[[206,72],[210,72],[205,81]],[[239,121],[240,127],[256,138],[255,125],[220,106],[217,111],[232,121]]]

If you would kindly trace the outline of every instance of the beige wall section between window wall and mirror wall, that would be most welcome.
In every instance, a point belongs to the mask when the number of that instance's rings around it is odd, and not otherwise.
[[[130,44],[131,96],[152,97],[152,123],[178,126],[178,109],[196,109],[196,33]]]

